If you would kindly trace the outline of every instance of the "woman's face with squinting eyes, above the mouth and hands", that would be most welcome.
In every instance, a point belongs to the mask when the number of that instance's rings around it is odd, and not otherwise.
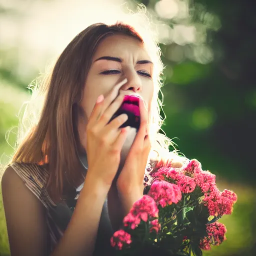
[[[138,94],[150,109],[152,72],[153,64],[138,39],[122,34],[103,39],[93,56],[84,86],[81,107],[85,119],[89,118],[97,97],[100,94],[105,97],[124,78],[127,82],[120,87],[119,94]]]

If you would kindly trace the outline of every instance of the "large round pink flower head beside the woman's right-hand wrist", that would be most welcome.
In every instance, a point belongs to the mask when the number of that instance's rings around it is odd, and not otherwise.
[[[181,199],[181,191],[178,185],[165,180],[155,180],[150,187],[148,195],[162,207],[172,202],[177,203]]]

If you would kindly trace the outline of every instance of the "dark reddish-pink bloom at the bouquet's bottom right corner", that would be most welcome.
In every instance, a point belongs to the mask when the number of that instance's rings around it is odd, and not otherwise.
[[[210,249],[210,245],[219,245],[226,239],[226,227],[224,224],[216,221],[214,223],[206,224],[207,236],[200,241],[199,247],[201,249]]]

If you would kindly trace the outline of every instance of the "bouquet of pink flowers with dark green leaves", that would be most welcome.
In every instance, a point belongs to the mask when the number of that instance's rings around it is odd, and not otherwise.
[[[199,256],[226,239],[217,220],[230,214],[237,196],[218,190],[215,175],[192,159],[186,166],[169,165],[150,173],[144,195],[123,218],[110,239],[117,255]]]

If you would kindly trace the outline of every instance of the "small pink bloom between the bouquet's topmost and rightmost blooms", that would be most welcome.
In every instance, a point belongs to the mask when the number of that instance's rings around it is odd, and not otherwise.
[[[201,188],[202,192],[205,193],[215,185],[215,175],[208,170],[202,170],[195,174],[195,182]]]

